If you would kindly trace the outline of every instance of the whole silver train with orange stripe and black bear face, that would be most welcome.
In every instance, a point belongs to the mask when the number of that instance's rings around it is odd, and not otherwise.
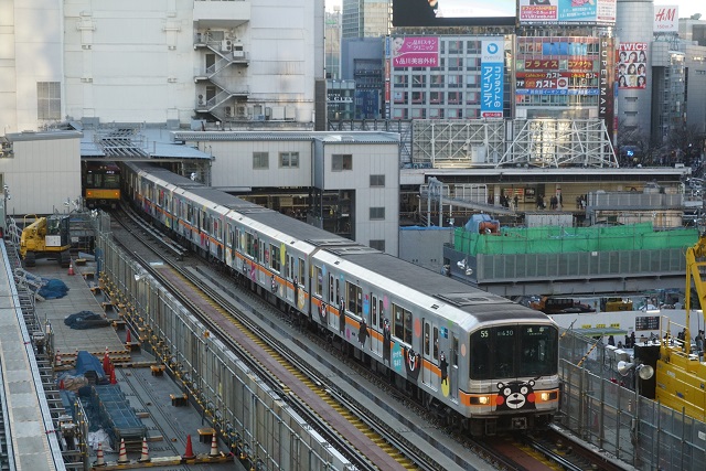
[[[472,436],[535,430],[559,408],[545,313],[146,162],[124,196],[240,283],[387,374]]]

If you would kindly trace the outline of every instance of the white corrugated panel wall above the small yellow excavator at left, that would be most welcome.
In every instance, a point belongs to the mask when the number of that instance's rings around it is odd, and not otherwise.
[[[21,218],[65,213],[66,200],[81,197],[79,138],[15,141],[13,146],[14,157],[0,159],[0,172],[12,196],[8,214]]]

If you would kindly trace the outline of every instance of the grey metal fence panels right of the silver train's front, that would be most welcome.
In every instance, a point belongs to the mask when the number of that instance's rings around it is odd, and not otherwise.
[[[559,355],[564,427],[639,470],[706,469],[706,424],[639,395],[600,340],[566,331]]]

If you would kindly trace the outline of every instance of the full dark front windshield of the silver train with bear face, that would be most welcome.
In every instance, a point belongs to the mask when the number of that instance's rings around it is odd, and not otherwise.
[[[471,379],[547,376],[557,373],[558,331],[552,325],[503,325],[475,331]]]

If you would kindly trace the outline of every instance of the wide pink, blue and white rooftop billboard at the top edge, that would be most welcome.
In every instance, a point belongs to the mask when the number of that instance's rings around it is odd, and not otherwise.
[[[613,24],[617,0],[520,0],[521,24]]]

